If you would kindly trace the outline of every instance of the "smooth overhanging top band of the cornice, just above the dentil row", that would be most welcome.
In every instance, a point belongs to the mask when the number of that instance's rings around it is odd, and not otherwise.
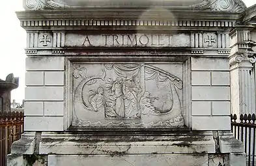
[[[238,20],[235,12],[211,12],[188,10],[165,10],[164,8],[87,8],[86,10],[42,10],[16,12],[20,20],[62,20],[62,19],[147,19],[147,20]]]

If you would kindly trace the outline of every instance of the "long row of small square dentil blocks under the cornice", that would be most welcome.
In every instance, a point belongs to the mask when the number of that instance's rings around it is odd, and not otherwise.
[[[172,26],[172,27],[235,27],[235,21],[176,20],[26,20],[21,27],[40,26]]]

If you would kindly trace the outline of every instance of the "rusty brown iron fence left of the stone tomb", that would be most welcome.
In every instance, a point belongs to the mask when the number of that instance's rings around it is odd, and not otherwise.
[[[0,166],[7,165],[6,157],[12,143],[21,138],[23,119],[23,112],[0,112]]]

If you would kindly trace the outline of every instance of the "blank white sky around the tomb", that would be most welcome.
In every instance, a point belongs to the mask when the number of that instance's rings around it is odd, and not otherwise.
[[[23,10],[23,0],[1,1],[0,5],[0,79],[13,73],[20,77],[20,86],[12,90],[12,100],[22,103],[25,96],[25,51],[26,33],[20,27],[15,11]],[[255,0],[244,0],[247,7],[256,4]]]

